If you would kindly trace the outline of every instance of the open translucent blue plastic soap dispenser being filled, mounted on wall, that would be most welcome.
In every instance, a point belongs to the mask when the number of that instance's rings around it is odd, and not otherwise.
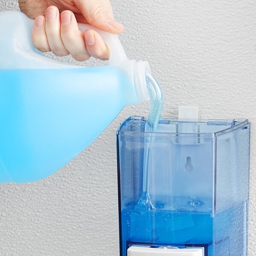
[[[120,256],[247,256],[248,120],[146,122],[117,131]]]

